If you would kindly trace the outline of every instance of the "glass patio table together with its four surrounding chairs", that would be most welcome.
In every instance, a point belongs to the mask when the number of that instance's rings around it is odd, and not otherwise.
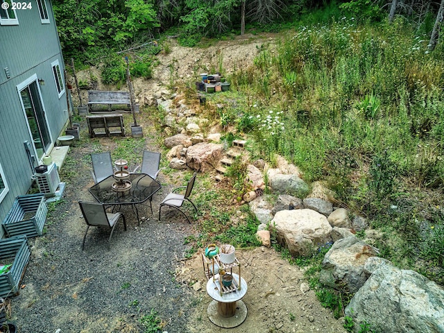
[[[121,212],[114,213],[114,210],[120,210],[121,206],[131,206],[137,216],[137,222],[140,223],[139,210],[137,205],[144,205],[147,201],[153,214],[152,200],[153,195],[162,188],[157,181],[157,175],[160,171],[160,153],[144,151],[142,166],[137,167],[130,172],[127,169],[126,160],[111,160],[111,153],[94,153],[92,159],[92,177],[94,185],[89,188],[89,193],[96,199],[95,203],[79,201],[87,230],[83,237],[82,249],[85,248],[85,239],[90,226],[108,227],[110,229],[110,238],[108,240],[108,249],[114,228],[118,221],[123,221],[126,230],[126,218]],[[140,172],[136,172],[140,169]],[[188,181],[187,186],[178,187],[168,194],[160,203],[159,220],[162,207],[173,207],[181,212],[188,220],[189,217],[180,208],[188,201],[193,205],[197,212],[196,205],[189,200],[191,191],[196,180],[196,173]],[[179,189],[185,189],[185,194],[176,194]],[[112,208],[112,212],[107,209]]]

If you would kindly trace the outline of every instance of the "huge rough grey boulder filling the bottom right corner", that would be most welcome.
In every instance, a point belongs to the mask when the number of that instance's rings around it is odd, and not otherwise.
[[[424,276],[381,264],[355,293],[345,314],[373,332],[444,332],[444,289]]]

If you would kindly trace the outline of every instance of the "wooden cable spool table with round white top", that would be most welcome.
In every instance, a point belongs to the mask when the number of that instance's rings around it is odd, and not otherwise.
[[[216,274],[207,282],[207,293],[213,299],[208,305],[207,314],[210,321],[219,327],[232,328],[244,323],[247,318],[247,307],[241,300],[247,292],[247,282],[239,275],[232,273],[234,288],[221,295],[221,278]]]

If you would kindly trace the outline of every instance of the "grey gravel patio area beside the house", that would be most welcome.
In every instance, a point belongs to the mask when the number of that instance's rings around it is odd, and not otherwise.
[[[85,160],[88,154],[74,147],[69,157]],[[65,196],[47,216],[46,234],[28,239],[31,259],[19,296],[11,298],[19,332],[144,332],[140,319],[151,309],[162,319],[163,330],[186,332],[193,298],[176,282],[175,271],[184,238],[194,228],[168,210],[162,210],[162,221],[157,219],[160,200],[173,186],[155,194],[152,216],[149,206],[139,205],[140,225],[130,206],[121,208],[128,230],[120,222],[109,251],[109,232],[98,228],[89,228],[82,251],[86,224],[78,200],[94,201],[88,191],[94,182],[90,166],[78,168],[77,181],[62,177]],[[162,175],[158,180],[164,183]]]

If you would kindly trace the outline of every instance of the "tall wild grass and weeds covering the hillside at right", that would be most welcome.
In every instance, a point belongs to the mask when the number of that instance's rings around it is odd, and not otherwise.
[[[273,108],[284,130],[259,121],[250,128],[252,146],[271,162],[284,155],[308,181],[327,180],[339,202],[374,221],[418,188],[441,193],[444,47],[425,54],[427,38],[415,33],[402,19],[360,26],[342,18],[301,25],[275,51],[261,51],[232,80],[261,105],[250,116],[263,119]],[[398,222],[387,224],[402,244],[409,239],[411,262],[436,262],[425,255],[433,250],[418,248],[438,244],[443,220],[432,225],[439,232],[418,232],[406,228],[417,218],[411,210],[397,214]],[[430,276],[444,282],[443,272]]]

